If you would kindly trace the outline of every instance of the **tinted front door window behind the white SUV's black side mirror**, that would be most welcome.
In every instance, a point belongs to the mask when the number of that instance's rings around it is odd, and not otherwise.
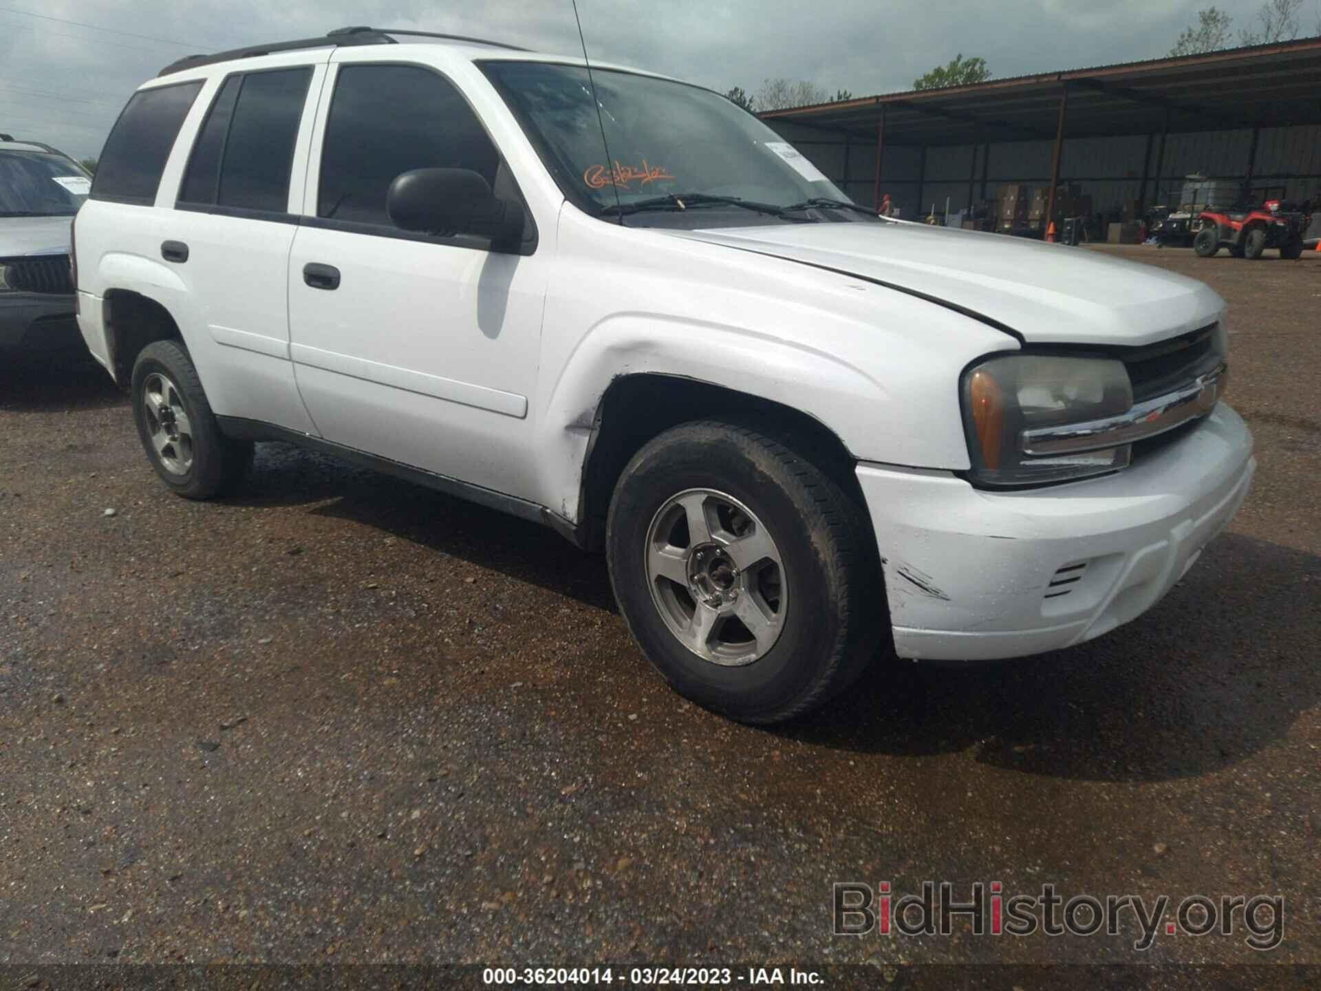
[[[454,86],[419,66],[341,66],[326,118],[317,217],[394,227],[400,173],[458,168],[495,188],[499,153]]]

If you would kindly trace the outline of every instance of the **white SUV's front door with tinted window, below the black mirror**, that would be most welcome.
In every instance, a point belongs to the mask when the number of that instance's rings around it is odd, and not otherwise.
[[[520,198],[457,78],[489,85],[453,71],[336,52],[289,260],[291,350],[328,440],[526,498],[550,251],[531,214],[517,254],[386,214],[391,181],[417,168],[472,169]]]

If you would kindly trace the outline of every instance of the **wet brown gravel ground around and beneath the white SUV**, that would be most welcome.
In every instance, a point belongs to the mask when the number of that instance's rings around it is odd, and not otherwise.
[[[1321,963],[1321,255],[1106,250],[1230,301],[1247,505],[1099,641],[775,731],[548,530],[273,444],[190,503],[98,367],[0,370],[0,962]],[[927,879],[1283,895],[1284,941],[831,936],[834,881]]]

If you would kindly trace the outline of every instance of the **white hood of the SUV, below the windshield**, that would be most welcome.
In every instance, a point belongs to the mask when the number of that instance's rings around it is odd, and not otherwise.
[[[1096,251],[918,223],[674,231],[853,275],[996,324],[1030,344],[1145,345],[1219,318],[1194,279]]]

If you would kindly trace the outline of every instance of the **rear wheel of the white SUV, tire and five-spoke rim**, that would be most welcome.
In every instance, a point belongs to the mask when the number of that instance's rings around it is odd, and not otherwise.
[[[152,468],[177,495],[210,499],[243,481],[252,444],[221,433],[180,341],[153,341],[133,362],[133,420]]]

